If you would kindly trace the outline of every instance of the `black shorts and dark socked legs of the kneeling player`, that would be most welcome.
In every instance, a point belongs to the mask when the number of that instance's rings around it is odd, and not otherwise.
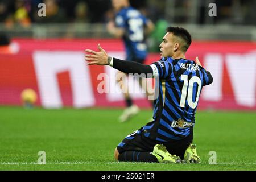
[[[142,127],[143,128],[143,127]],[[172,155],[184,158],[185,150],[193,142],[193,131],[181,140],[170,140],[169,142],[159,142],[144,136],[142,128],[128,135],[118,144],[119,154],[125,151],[152,152],[156,144],[164,144],[167,151]]]

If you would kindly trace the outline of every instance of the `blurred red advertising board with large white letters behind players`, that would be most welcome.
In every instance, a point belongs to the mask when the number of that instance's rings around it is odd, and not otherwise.
[[[0,105],[21,105],[20,93],[31,88],[38,94],[36,105],[46,108],[124,106],[122,94],[115,92],[114,69],[84,61],[84,50],[98,43],[109,55],[124,58],[123,44],[115,39],[14,39],[13,53],[0,49]],[[213,76],[213,84],[203,88],[199,109],[256,110],[256,43],[193,42],[186,56],[199,56]],[[150,53],[146,63],[159,58]],[[104,76],[108,93],[99,92]],[[132,97],[150,107],[144,94]]]

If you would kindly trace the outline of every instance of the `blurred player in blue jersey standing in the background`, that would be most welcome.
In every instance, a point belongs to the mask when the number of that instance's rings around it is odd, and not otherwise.
[[[151,20],[143,16],[138,10],[130,6],[129,0],[112,0],[115,11],[115,21],[107,24],[107,30],[115,38],[122,38],[125,43],[126,59],[133,60],[138,63],[144,63],[147,57],[147,45],[145,35],[150,34],[154,30],[154,24]],[[120,72],[119,72],[120,73]],[[127,84],[119,81],[122,85],[123,94],[126,101],[126,109],[119,117],[121,122],[125,122],[139,112],[137,105],[133,104],[128,93]],[[140,81],[139,84],[142,84]],[[147,88],[143,88],[146,90]]]

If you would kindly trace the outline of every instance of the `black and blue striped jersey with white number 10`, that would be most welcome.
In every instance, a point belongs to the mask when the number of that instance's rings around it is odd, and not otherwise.
[[[187,59],[163,57],[150,65],[158,78],[154,121],[143,127],[145,137],[159,142],[180,140],[193,132],[203,86],[212,83],[208,71]]]

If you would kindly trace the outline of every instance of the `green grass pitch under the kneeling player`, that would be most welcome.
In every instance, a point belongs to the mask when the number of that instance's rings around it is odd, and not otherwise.
[[[0,107],[0,170],[255,170],[256,113],[197,111],[194,141],[201,164],[115,162],[114,149],[146,124],[150,110],[126,123],[121,109],[31,110]],[[38,152],[46,152],[39,165]],[[210,165],[209,151],[217,164]]]

